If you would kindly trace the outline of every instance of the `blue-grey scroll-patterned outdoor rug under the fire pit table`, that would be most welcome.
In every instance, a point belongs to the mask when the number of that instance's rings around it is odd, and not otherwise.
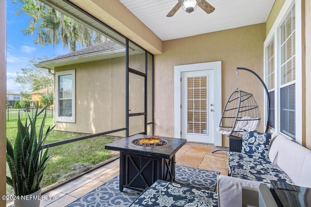
[[[219,172],[176,165],[176,182],[189,187],[215,191]],[[119,190],[119,176],[69,204],[68,207],[128,207],[141,192]]]

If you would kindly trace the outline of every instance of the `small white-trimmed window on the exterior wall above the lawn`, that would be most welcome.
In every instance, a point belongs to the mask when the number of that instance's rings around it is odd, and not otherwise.
[[[58,122],[75,122],[75,70],[55,73],[55,112]]]

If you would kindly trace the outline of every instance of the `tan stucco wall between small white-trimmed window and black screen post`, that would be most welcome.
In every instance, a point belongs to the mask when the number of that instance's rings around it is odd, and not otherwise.
[[[55,130],[93,134],[125,127],[124,58],[68,65],[55,72],[69,69],[76,73],[76,122],[56,122]]]

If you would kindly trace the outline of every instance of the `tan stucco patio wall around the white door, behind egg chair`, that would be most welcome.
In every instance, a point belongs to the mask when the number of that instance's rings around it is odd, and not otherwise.
[[[263,78],[264,39],[265,24],[258,24],[163,42],[163,54],[155,55],[155,134],[174,135],[174,65],[222,61],[223,109],[236,89],[237,67],[252,69]],[[240,71],[239,80],[239,89],[255,96],[263,118],[261,83],[247,71]],[[259,130],[263,129],[261,122]],[[223,145],[228,146],[227,137]]]

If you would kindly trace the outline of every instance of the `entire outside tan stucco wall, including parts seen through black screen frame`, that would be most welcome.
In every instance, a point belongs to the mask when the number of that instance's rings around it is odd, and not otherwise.
[[[141,69],[145,65],[144,54],[132,55],[130,59],[131,68],[144,72]],[[55,130],[95,134],[124,128],[125,57],[71,64],[57,67],[55,72],[70,69],[75,69],[76,77],[75,123],[55,122]],[[144,91],[144,78],[130,73],[130,113],[144,112]],[[151,107],[152,102],[149,100],[148,103]],[[130,117],[129,128],[130,135],[143,132],[144,116]],[[125,136],[125,131],[112,135]]]

